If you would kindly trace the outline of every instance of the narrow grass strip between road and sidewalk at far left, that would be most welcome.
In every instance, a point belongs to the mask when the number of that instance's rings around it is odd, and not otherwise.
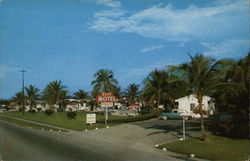
[[[16,120],[16,119],[4,117],[4,116],[0,116],[0,119],[15,123],[17,125],[34,128],[34,129],[44,129],[44,130],[51,130],[52,129],[53,131],[61,130],[62,132],[67,132],[66,130],[62,130],[62,129],[58,129],[58,128],[51,128],[51,127],[43,126],[43,125],[37,125],[37,124],[33,124],[33,123],[25,122],[25,121],[20,121],[20,120]]]

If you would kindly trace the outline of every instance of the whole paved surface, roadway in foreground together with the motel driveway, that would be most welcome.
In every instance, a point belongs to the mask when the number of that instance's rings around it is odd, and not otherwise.
[[[179,120],[150,120],[66,133],[40,131],[6,121],[0,121],[0,124],[0,160],[3,161],[200,160],[154,148],[155,144],[179,140]],[[190,132],[193,134],[196,130]]]

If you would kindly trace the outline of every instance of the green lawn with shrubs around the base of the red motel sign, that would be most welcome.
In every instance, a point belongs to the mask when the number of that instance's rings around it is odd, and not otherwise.
[[[70,119],[66,116],[66,112],[58,112],[53,113],[51,116],[47,116],[43,112],[37,112],[37,113],[25,113],[25,115],[22,115],[22,112],[5,112],[4,115],[6,116],[12,116],[17,118],[22,118],[26,120],[31,120],[39,123],[45,123],[49,125],[54,125],[58,127],[63,127],[67,129],[72,130],[78,130],[82,131],[84,129],[95,129],[103,128],[106,125],[104,124],[104,115],[103,114],[97,114],[97,123],[93,125],[86,125],[86,112],[77,112],[77,116],[74,119]],[[148,113],[142,116],[138,117],[127,117],[127,116],[111,116],[109,115],[109,126],[114,126],[121,123],[126,122],[134,122],[134,121],[141,121],[146,119],[151,119],[154,117],[157,117],[158,114],[156,112],[154,113]]]

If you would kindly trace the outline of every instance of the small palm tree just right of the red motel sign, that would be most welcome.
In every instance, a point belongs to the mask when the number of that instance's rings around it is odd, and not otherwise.
[[[129,104],[134,104],[136,97],[139,97],[139,85],[138,84],[130,84],[126,89],[125,89],[125,95],[128,97]]]

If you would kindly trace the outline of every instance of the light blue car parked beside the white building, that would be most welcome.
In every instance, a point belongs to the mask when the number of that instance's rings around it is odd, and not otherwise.
[[[186,117],[187,119],[192,118],[191,113],[187,113],[186,111],[180,111],[178,109],[172,110],[172,112],[162,112],[160,115],[160,119],[168,120],[168,119],[183,119]]]

